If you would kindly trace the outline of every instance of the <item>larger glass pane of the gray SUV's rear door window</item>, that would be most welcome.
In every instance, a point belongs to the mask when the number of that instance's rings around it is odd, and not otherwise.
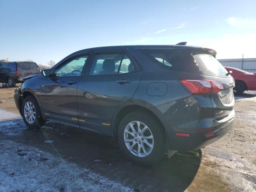
[[[103,53],[94,56],[90,75],[109,75],[117,74],[118,67],[116,63],[122,59],[122,54],[118,53]]]

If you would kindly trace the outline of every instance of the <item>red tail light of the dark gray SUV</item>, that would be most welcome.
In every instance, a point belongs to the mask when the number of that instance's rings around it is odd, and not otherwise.
[[[218,93],[224,90],[221,82],[209,79],[182,79],[179,82],[192,95]]]

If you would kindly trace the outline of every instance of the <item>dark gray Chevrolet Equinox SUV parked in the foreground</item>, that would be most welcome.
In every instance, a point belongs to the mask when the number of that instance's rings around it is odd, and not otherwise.
[[[185,45],[80,50],[25,78],[14,98],[29,128],[50,120],[106,134],[133,162],[153,164],[232,128],[234,79],[215,56]]]

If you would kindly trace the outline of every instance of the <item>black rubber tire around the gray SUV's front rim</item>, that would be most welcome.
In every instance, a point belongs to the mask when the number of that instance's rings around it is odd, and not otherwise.
[[[27,102],[31,102],[34,105],[36,114],[35,114],[35,120],[33,123],[29,123],[25,118],[24,107]],[[23,118],[26,126],[28,126],[28,128],[38,129],[38,128],[41,128],[45,124],[45,121],[43,120],[42,114],[40,112],[39,105],[38,105],[36,99],[34,98],[34,96],[32,96],[32,95],[24,98],[24,100],[22,102],[22,107],[21,107],[21,114],[22,114],[22,118]]]

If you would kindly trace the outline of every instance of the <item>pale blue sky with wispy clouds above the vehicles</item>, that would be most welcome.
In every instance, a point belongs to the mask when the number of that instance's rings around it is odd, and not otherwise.
[[[58,62],[95,46],[176,44],[256,57],[256,1],[0,0],[0,59]]]

